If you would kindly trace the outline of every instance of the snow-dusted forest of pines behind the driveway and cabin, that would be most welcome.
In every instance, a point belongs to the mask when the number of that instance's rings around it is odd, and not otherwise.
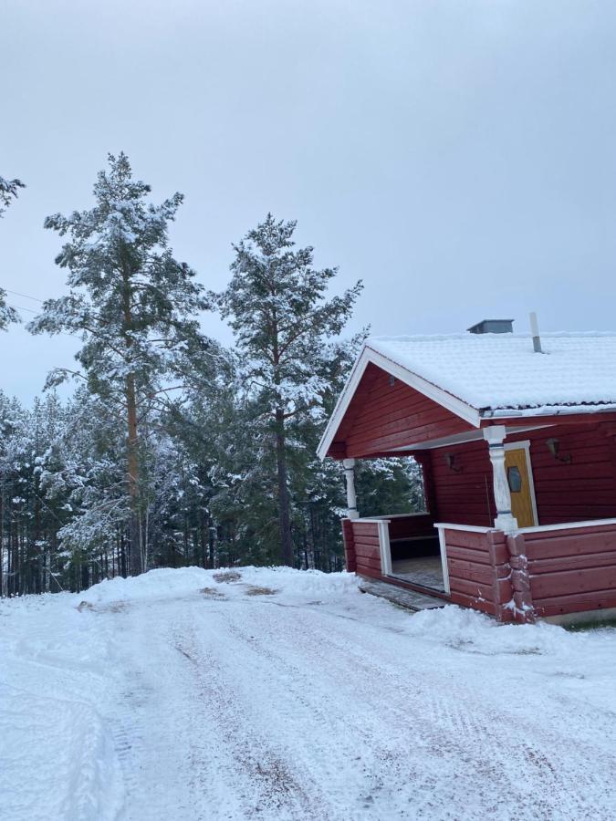
[[[0,216],[23,187],[0,178]],[[316,450],[363,338],[345,337],[361,284],[330,296],[336,269],[267,214],[232,246],[228,286],[208,291],[169,246],[182,200],[151,203],[110,155],[92,208],[47,217],[67,289],[28,329],[81,347],[32,407],[0,391],[4,596],[159,566],[343,566],[342,471]],[[5,330],[19,319],[8,303],[0,289]],[[233,347],[204,336],[205,311]],[[360,462],[356,481],[365,512],[423,504],[412,461]]]

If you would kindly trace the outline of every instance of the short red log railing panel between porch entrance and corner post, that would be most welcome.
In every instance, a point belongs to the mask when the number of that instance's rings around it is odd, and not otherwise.
[[[482,610],[504,621],[513,618],[506,608],[513,589],[505,535],[499,531],[475,533],[446,528],[444,538],[454,604]]]

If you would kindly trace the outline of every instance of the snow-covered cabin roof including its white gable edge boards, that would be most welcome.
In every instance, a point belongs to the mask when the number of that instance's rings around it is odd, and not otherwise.
[[[370,337],[318,448],[325,455],[369,362],[479,426],[482,418],[616,410],[616,333]]]

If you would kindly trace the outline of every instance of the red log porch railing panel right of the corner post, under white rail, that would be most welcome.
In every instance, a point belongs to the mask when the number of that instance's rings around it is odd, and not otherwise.
[[[538,616],[616,607],[616,525],[523,536]]]

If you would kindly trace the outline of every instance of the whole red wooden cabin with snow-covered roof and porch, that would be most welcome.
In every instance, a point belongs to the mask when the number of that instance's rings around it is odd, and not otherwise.
[[[344,461],[350,571],[501,620],[616,608],[616,335],[542,347],[481,326],[365,342],[318,448]],[[360,516],[355,461],[402,455],[425,512]]]

